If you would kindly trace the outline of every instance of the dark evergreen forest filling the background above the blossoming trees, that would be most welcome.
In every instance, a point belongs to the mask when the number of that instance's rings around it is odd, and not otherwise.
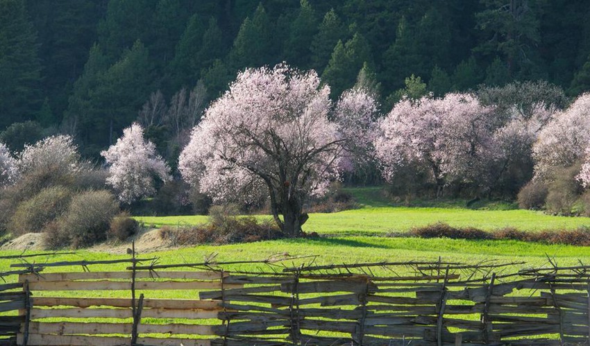
[[[333,101],[362,83],[385,112],[514,81],[573,97],[590,89],[589,15],[582,0],[0,0],[0,131],[13,151],[18,131],[65,133],[99,158],[140,120],[175,168],[237,73],[280,62],[316,70]]]

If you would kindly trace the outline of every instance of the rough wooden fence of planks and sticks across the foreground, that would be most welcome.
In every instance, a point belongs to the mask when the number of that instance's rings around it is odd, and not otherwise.
[[[0,345],[590,345],[589,266],[503,273],[514,263],[438,261],[247,273],[124,261],[126,271],[109,272],[87,268],[121,261],[15,264],[18,282],[0,286],[0,311],[13,312],[0,318]],[[45,273],[71,265],[86,270]]]

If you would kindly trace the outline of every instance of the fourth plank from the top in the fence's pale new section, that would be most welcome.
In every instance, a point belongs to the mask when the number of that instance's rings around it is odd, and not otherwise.
[[[144,318],[217,318],[218,311],[199,309],[144,309]],[[131,309],[31,309],[31,319],[39,318],[131,318]]]

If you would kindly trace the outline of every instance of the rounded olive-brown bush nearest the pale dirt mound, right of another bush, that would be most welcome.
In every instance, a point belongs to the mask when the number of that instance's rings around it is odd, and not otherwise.
[[[58,220],[60,232],[65,232],[68,239],[60,247],[83,248],[105,240],[110,222],[117,213],[119,203],[106,190],[85,191],[74,196]]]

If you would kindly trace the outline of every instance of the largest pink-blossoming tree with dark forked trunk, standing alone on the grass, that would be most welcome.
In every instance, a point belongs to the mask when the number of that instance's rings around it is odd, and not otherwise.
[[[326,193],[360,146],[348,145],[354,132],[344,128],[362,121],[344,109],[332,114],[329,94],[315,71],[280,64],[239,73],[180,154],[183,178],[218,201],[269,196],[276,223],[297,236],[305,199]]]

